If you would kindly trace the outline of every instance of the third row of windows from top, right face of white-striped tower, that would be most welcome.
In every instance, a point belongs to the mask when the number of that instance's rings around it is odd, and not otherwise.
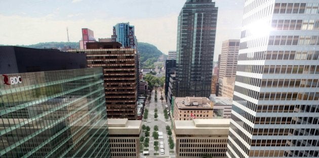
[[[269,36],[268,45],[319,45],[318,36]]]

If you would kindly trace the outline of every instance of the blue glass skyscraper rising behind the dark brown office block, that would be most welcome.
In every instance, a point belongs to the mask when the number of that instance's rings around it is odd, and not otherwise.
[[[120,42],[125,48],[137,49],[134,26],[130,23],[118,23],[113,26],[112,42]]]

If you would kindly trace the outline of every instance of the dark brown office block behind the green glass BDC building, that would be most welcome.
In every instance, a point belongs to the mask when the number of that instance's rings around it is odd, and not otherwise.
[[[138,64],[136,49],[120,48],[118,42],[88,43],[87,49],[68,50],[86,54],[88,67],[102,67],[108,118],[137,118]]]

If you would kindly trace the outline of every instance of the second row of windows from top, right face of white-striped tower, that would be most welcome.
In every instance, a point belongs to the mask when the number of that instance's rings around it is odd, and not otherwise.
[[[319,30],[319,20],[272,20],[276,30]]]

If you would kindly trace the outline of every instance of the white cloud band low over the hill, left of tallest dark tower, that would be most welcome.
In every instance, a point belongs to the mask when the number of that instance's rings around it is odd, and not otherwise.
[[[81,28],[93,30],[96,39],[110,38],[113,32],[112,27],[116,23],[129,21],[131,25],[135,26],[135,35],[139,42],[154,44],[166,54],[168,50],[176,49],[176,15],[136,20],[123,18],[54,20],[51,19],[51,16],[32,18],[0,14],[0,19],[2,21],[0,29],[6,30],[6,35],[9,36],[0,36],[0,44],[27,45],[38,42],[67,41],[66,27],[68,27],[70,41],[81,40]]]

